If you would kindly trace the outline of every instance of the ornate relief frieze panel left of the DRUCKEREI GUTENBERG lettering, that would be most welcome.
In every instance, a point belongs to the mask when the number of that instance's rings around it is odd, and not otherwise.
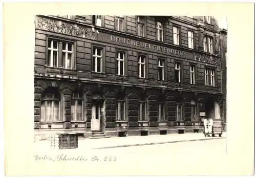
[[[74,35],[83,38],[95,39],[95,32],[91,28],[82,27],[76,24],[65,23],[61,20],[55,20],[45,17],[36,17],[36,28],[48,30],[51,32]]]

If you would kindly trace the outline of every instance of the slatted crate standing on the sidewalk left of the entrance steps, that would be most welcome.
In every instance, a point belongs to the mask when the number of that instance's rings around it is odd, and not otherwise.
[[[51,136],[51,146],[58,149],[78,148],[76,133],[57,133]]]

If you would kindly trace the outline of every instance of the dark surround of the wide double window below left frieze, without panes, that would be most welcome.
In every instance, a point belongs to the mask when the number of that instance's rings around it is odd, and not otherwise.
[[[55,40],[58,42],[58,51],[57,51],[57,66],[50,66],[49,65],[49,40]],[[73,53],[72,53],[72,68],[71,69],[68,69],[68,68],[65,68],[65,66],[62,65],[62,49],[63,49],[63,43],[66,42],[66,43],[72,43],[72,46],[73,46]],[[61,38],[61,37],[56,37],[56,36],[51,36],[51,35],[48,35],[46,37],[46,64],[45,66],[47,66],[48,68],[59,68],[59,69],[64,69],[64,70],[71,70],[71,71],[75,71],[77,70],[77,64],[76,64],[76,48],[77,48],[77,42],[75,40],[70,40],[70,39],[67,39],[67,38]]]

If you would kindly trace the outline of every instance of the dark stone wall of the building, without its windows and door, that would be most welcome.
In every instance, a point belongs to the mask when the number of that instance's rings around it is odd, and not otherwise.
[[[207,113],[208,100],[219,103],[223,119],[223,72],[220,30],[202,22],[201,17],[169,16],[163,20],[163,41],[157,41],[156,21],[145,17],[145,37],[137,36],[136,16],[124,16],[124,32],[116,31],[115,16],[101,16],[101,27],[92,24],[92,16],[67,19],[37,16],[35,33],[34,130],[35,136],[55,132],[92,134],[92,102],[96,95],[103,100],[101,131],[109,136],[127,131],[128,136],[202,131],[201,113]],[[203,25],[202,25],[203,24]],[[180,46],[173,44],[173,26],[179,26]],[[194,49],[188,48],[188,30],[194,32]],[[214,39],[213,54],[203,51],[203,35]],[[73,69],[49,66],[49,39],[73,43]],[[62,43],[60,44],[62,45]],[[102,49],[102,71],[93,71],[93,48]],[[124,75],[117,75],[116,54],[125,54]],[[60,54],[60,53],[59,53]],[[145,58],[145,78],[138,77],[138,56]],[[164,59],[164,80],[158,80],[158,59]],[[61,59],[58,59],[61,60]],[[181,81],[175,82],[175,62],[181,63]],[[190,65],[195,66],[195,84],[190,84]],[[215,70],[215,86],[205,86],[205,69]],[[47,88],[60,93],[60,120],[41,122],[42,96]],[[72,96],[83,96],[82,121],[71,120]],[[125,121],[117,121],[117,101],[125,98]],[[140,121],[140,101],[146,99],[147,120]],[[191,101],[197,106],[197,119],[191,120]],[[159,103],[164,103],[165,120],[159,121]],[[182,104],[182,120],[177,121],[177,103]],[[220,119],[220,118],[219,118]]]

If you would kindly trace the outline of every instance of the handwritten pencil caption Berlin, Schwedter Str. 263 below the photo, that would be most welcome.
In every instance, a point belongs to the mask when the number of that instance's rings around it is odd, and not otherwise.
[[[34,155],[35,161],[52,161],[52,162],[115,162],[117,158],[115,156],[104,156],[100,157],[98,155],[92,155],[91,157],[86,157],[84,155],[77,155],[75,157],[70,157],[67,154],[60,155]]]

